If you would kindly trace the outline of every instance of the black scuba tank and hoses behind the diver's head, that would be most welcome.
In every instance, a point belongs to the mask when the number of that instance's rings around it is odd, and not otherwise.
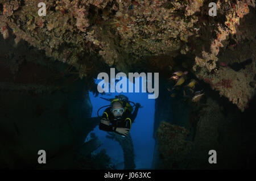
[[[115,98],[110,98],[110,99],[107,99],[107,98],[102,98],[102,97],[100,97],[101,99],[104,99],[104,100],[108,100],[111,104],[110,105],[107,105],[107,106],[102,106],[100,109],[98,109],[98,111],[97,111],[97,115],[98,115],[98,112],[102,109],[102,108],[104,108],[104,107],[111,107],[112,106],[112,104],[114,103],[114,102],[116,102],[116,101],[118,101],[118,102],[120,102],[122,105],[123,105],[123,108],[125,109],[125,111],[126,110],[129,110],[130,112],[133,112],[133,107],[135,106],[135,103],[134,102],[131,102],[128,98],[127,98],[127,96],[125,96],[125,95],[116,95],[115,96]],[[131,104],[130,103],[132,103],[133,104],[133,106],[131,106]],[[124,111],[124,112],[125,112]],[[98,117],[101,119],[101,117],[98,115]]]

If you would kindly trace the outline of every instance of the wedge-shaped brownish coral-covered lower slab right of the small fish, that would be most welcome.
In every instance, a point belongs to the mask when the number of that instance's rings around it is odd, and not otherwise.
[[[254,96],[255,89],[249,83],[253,81],[255,72],[255,62],[252,62],[239,71],[225,66],[214,74],[208,75],[200,71],[198,75],[200,79],[209,83],[213,90],[219,91],[221,96],[225,96],[244,111]]]

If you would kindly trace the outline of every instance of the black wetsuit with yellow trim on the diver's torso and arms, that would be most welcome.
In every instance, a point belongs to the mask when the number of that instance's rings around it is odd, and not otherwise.
[[[131,129],[131,124],[134,122],[137,113],[138,113],[138,108],[139,106],[135,107],[135,110],[133,113],[131,113],[129,110],[126,110],[125,112],[123,112],[122,117],[120,117],[119,119],[116,119],[113,115],[113,113],[110,111],[110,107],[106,108],[106,110],[104,111],[102,118],[105,119],[109,119],[110,121],[110,125],[106,125],[100,122],[99,124],[99,128],[103,131],[107,131],[107,132],[116,132],[115,129],[116,128],[129,128]],[[118,132],[116,132],[118,133]],[[121,134],[121,133],[118,133]],[[123,134],[121,134],[123,135]]]

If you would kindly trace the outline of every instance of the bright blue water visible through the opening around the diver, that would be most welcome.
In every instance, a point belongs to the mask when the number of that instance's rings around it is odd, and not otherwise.
[[[141,79],[140,79],[141,81]],[[99,82],[96,80],[96,82]],[[127,80],[128,82],[128,80]],[[135,88],[135,86],[134,86]],[[127,90],[128,90],[127,86]],[[110,94],[110,93],[108,93]],[[100,107],[108,105],[107,100],[101,99],[100,96],[104,98],[114,98],[115,95],[120,93],[111,93],[111,95],[99,95],[94,97],[92,92],[89,92],[90,101],[92,102],[93,111],[92,117],[97,116],[97,111]],[[131,126],[130,134],[133,139],[134,154],[135,154],[135,169],[151,169],[153,151],[154,151],[154,113],[155,113],[155,99],[148,99],[148,93],[142,93],[141,86],[139,92],[127,92],[121,93],[129,98],[134,103],[140,103],[143,108],[138,111],[137,118]],[[102,108],[100,115],[102,115],[105,108]],[[117,141],[110,140],[106,138],[105,131],[101,131],[98,126],[92,131],[103,143],[100,148],[98,148],[94,153],[97,153],[101,149],[106,149],[106,154],[110,156],[112,162],[119,163],[118,169],[123,169],[123,151],[121,146]],[[87,141],[89,138],[86,138]]]

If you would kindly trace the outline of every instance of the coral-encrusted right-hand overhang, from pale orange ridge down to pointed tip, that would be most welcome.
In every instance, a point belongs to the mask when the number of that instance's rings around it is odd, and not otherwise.
[[[196,56],[193,66],[199,79],[237,104],[241,111],[255,94],[249,85],[255,74],[255,14],[249,14],[249,6],[255,7],[254,1],[218,2],[225,22],[218,24],[209,50]],[[248,64],[246,60],[253,61]]]

